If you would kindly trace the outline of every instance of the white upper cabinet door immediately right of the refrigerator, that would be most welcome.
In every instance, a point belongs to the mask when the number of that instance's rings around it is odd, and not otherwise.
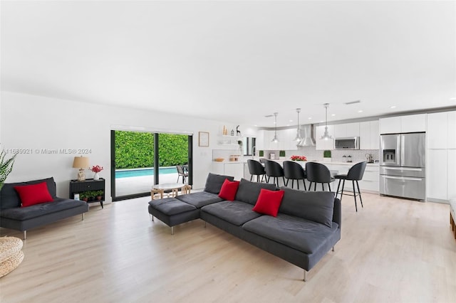
[[[447,149],[448,147],[448,113],[436,112],[427,115],[427,148]]]

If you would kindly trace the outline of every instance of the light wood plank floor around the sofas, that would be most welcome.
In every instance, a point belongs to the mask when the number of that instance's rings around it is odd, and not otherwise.
[[[138,198],[28,231],[0,302],[456,302],[449,206],[363,196],[358,213],[344,196],[341,241],[308,282],[201,220],[170,235]]]

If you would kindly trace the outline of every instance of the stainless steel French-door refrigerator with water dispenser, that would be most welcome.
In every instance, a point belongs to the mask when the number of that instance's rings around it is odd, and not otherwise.
[[[425,133],[380,135],[380,194],[425,200]]]

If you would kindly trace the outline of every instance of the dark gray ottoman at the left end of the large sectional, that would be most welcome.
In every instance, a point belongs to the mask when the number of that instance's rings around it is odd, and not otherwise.
[[[149,213],[170,226],[174,235],[174,226],[199,218],[199,209],[176,198],[164,198],[149,202]]]

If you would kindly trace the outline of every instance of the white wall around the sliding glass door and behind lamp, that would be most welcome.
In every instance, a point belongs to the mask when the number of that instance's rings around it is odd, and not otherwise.
[[[110,130],[114,125],[123,125],[193,132],[193,186],[203,188],[222,124],[231,125],[178,114],[1,92],[1,148],[30,152],[16,157],[6,181],[53,176],[58,196],[68,197],[68,182],[77,174],[71,167],[75,154],[44,154],[42,149],[90,149],[90,165],[105,167],[100,176],[106,179],[106,196],[110,197]],[[209,147],[198,147],[198,132],[210,133]],[[86,170],[87,178],[92,175]]]

